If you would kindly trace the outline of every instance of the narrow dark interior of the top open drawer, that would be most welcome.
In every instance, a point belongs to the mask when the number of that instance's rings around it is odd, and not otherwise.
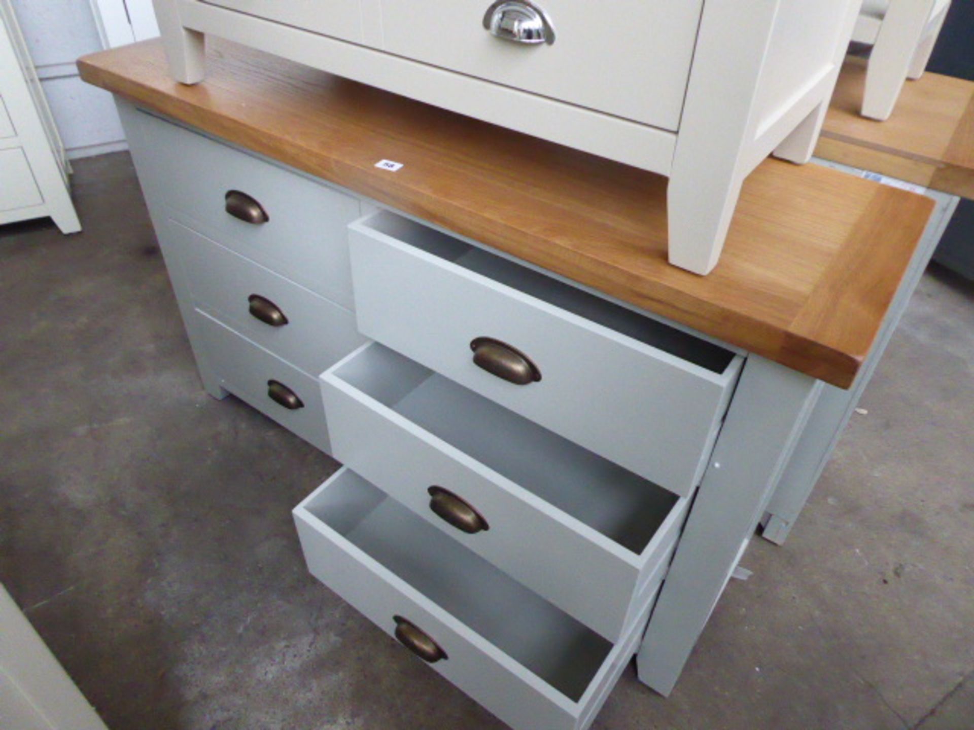
[[[371,216],[360,225],[368,226],[549,305],[577,314],[639,343],[668,352],[712,373],[724,373],[734,358],[734,353],[725,347],[701,340],[676,327],[620,307],[388,210]]]

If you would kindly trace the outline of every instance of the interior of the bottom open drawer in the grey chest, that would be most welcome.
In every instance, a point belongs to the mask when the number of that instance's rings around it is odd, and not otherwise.
[[[302,506],[573,702],[613,649],[351,470]]]

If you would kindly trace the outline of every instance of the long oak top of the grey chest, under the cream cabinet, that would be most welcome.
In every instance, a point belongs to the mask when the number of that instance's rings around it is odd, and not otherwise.
[[[848,387],[933,202],[820,165],[762,164],[708,276],[666,262],[666,179],[230,43],[169,79],[148,41],[82,78],[814,378]],[[404,166],[376,168],[380,160]]]

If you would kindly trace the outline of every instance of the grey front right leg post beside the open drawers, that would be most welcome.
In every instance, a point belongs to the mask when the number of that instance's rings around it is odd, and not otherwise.
[[[636,657],[668,695],[754,533],[822,383],[751,355]]]

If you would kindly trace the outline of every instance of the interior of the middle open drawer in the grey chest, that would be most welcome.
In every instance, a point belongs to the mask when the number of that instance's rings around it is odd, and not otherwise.
[[[331,375],[633,553],[679,499],[378,343]]]

